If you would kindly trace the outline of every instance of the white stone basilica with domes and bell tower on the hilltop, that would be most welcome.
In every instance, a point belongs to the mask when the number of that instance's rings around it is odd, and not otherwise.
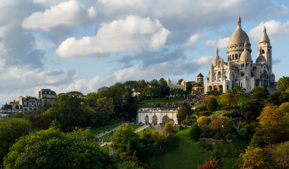
[[[264,87],[269,92],[277,90],[275,75],[272,72],[272,47],[264,26],[263,34],[257,47],[258,57],[253,63],[251,44],[248,35],[241,28],[241,18],[237,19],[237,29],[229,40],[227,62],[219,56],[217,47],[204,93],[209,90],[223,89],[223,92],[241,86],[249,93],[255,86]]]

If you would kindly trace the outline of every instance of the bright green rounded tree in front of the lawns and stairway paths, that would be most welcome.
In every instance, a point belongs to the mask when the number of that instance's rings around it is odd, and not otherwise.
[[[112,141],[114,148],[121,152],[126,152],[128,148],[131,148],[130,151],[136,150],[140,142],[140,138],[134,132],[134,128],[129,125],[123,125],[121,128],[117,129],[110,140]],[[131,147],[128,147],[128,144],[130,144]]]

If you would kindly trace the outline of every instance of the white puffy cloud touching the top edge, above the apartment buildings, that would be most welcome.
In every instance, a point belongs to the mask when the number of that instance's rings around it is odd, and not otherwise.
[[[35,12],[28,16],[22,22],[24,29],[44,30],[50,29],[58,25],[66,25],[68,27],[77,27],[89,25],[94,22],[96,11],[94,7],[86,8],[79,1],[70,0],[51,6],[44,12]]]

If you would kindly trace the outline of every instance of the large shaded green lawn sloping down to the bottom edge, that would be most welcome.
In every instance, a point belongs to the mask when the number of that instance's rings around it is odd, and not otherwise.
[[[197,168],[197,165],[202,165],[205,160],[210,158],[210,152],[204,151],[196,142],[189,138],[190,127],[186,127],[178,131],[179,146],[169,153],[155,159],[144,159],[142,162],[146,164],[155,163],[162,168],[182,168],[191,169]],[[222,169],[231,169],[237,158],[223,157]]]

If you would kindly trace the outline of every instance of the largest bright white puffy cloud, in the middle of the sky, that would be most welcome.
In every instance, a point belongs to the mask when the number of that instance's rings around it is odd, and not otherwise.
[[[158,50],[171,33],[160,21],[139,16],[126,16],[110,23],[101,23],[97,34],[82,39],[68,38],[56,53],[60,57],[90,57],[106,53],[130,53],[142,49]]]

